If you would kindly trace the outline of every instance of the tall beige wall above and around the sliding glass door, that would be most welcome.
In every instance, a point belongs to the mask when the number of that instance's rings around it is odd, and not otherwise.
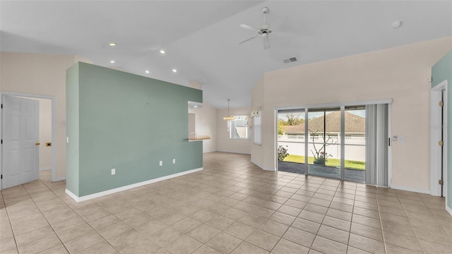
[[[348,56],[263,74],[252,107],[263,106],[262,146],[251,159],[275,168],[274,108],[393,99],[392,186],[429,191],[429,99],[431,68],[452,48],[452,37]]]

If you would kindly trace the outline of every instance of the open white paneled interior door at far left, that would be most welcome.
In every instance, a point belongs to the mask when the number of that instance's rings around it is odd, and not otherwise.
[[[39,178],[39,101],[3,95],[2,188]]]

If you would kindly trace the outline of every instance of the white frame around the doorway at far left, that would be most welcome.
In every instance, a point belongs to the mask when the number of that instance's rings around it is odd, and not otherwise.
[[[57,126],[57,98],[55,96],[51,95],[35,95],[35,94],[29,94],[24,92],[0,92],[0,103],[3,103],[1,101],[1,95],[11,95],[11,96],[20,96],[20,97],[30,97],[30,98],[40,98],[40,99],[50,99],[52,101],[52,181],[58,181],[57,180],[57,172],[56,172],[56,164],[57,164],[57,157],[55,156],[57,152],[57,148],[55,147],[55,140],[56,140],[56,126]],[[0,117],[0,133],[3,133],[1,128],[3,128],[3,123],[1,123],[1,117]],[[1,137],[3,138],[3,137]],[[1,146],[0,146],[0,155],[1,155]],[[1,162],[1,161],[0,161]],[[1,163],[0,163],[1,165]],[[3,170],[0,166],[0,172],[3,174]],[[2,189],[1,181],[0,181],[0,190]]]

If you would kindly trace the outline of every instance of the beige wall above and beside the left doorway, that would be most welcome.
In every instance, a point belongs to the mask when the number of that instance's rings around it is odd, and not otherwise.
[[[56,176],[66,176],[66,69],[76,61],[86,61],[77,56],[0,53],[0,89],[32,95],[50,95],[56,98]]]

